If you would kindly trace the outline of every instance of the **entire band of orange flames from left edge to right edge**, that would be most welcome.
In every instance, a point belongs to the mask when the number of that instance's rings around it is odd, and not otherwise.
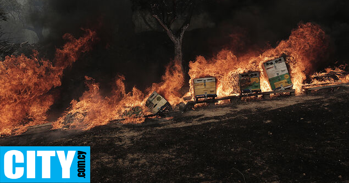
[[[26,127],[47,123],[46,112],[54,103],[50,89],[60,86],[65,68],[74,63],[78,56],[91,49],[96,33],[86,30],[86,35],[79,39],[66,34],[68,42],[62,49],[57,49],[53,62],[37,58],[34,52],[31,58],[7,56],[0,62],[0,135],[20,134]],[[173,107],[185,103],[184,98],[194,99],[194,79],[214,77],[217,97],[240,94],[239,75],[247,72],[259,72],[259,85],[262,92],[272,91],[265,71],[264,63],[283,56],[288,66],[292,88],[297,95],[309,85],[331,85],[349,82],[345,66],[315,72],[327,39],[324,30],[317,24],[301,23],[292,30],[288,40],[281,41],[275,48],[263,52],[250,52],[237,57],[230,50],[221,50],[214,58],[198,56],[189,63],[189,91],[185,94],[180,89],[185,86],[184,73],[180,61],[172,61],[166,67],[159,83],[153,83],[146,90],[136,87],[126,92],[125,77],[115,79],[111,95],[104,97],[99,84],[93,78],[85,77],[88,90],[79,100],[72,100],[67,111],[53,122],[57,128],[90,129],[105,125],[111,120],[123,119],[123,123],[141,123],[144,115],[150,114],[146,107],[147,99],[156,91]],[[335,77],[334,77],[335,75]]]

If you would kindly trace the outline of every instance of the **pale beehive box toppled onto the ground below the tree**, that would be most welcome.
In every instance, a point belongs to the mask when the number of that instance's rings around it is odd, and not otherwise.
[[[147,99],[146,107],[153,114],[172,111],[171,104],[155,91]]]

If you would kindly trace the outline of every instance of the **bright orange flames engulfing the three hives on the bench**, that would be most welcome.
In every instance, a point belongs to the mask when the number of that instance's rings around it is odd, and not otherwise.
[[[238,75],[247,71],[260,71],[262,92],[271,91],[263,63],[282,55],[286,56],[293,89],[296,94],[303,92],[302,85],[306,75],[312,72],[312,65],[316,64],[327,48],[325,32],[313,23],[299,24],[292,30],[288,40],[281,41],[276,48],[265,50],[259,56],[250,52],[239,58],[232,51],[222,50],[216,57],[207,60],[198,56],[195,62],[189,63],[190,92],[193,94],[193,79],[213,76],[217,79],[217,96],[224,97],[239,94]]]

